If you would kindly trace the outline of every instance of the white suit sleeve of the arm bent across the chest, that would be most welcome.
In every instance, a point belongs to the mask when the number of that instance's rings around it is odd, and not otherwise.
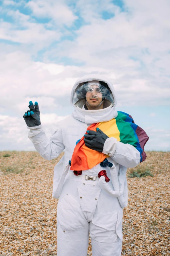
[[[140,152],[133,145],[124,144],[113,137],[106,140],[103,153],[125,167],[133,168],[140,163]]]

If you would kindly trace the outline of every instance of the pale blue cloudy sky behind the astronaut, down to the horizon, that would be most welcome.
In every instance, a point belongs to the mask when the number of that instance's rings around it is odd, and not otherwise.
[[[103,74],[117,110],[170,150],[169,0],[0,0],[0,150],[34,150],[22,115],[48,128],[71,114],[78,77]]]

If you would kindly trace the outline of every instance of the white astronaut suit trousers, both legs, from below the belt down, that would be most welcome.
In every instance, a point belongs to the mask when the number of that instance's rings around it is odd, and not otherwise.
[[[86,256],[89,232],[93,256],[121,255],[119,200],[99,190],[97,182],[65,180],[57,206],[57,256]]]

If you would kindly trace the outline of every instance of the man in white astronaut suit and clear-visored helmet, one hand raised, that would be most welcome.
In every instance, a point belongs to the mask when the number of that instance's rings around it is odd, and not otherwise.
[[[57,158],[65,149],[64,156],[54,168],[53,197],[59,197],[57,255],[86,256],[90,232],[93,256],[120,256],[122,208],[127,206],[126,170],[140,162],[140,153],[133,145],[123,144],[105,134],[101,136],[100,132],[84,135],[91,124],[107,122],[118,115],[115,91],[109,79],[101,75],[78,79],[72,89],[71,105],[74,106],[73,113],[52,127],[50,138],[40,123],[37,102],[33,105],[30,101],[30,111],[23,115],[30,129],[28,137],[43,158]],[[119,189],[123,190],[121,196],[112,196],[112,192],[107,193],[107,189],[101,188],[98,173],[103,167],[100,164],[78,176],[70,170],[68,161],[83,136],[87,147],[109,156],[108,161],[116,168]],[[111,169],[106,166],[105,170],[110,179],[108,187],[114,191]]]

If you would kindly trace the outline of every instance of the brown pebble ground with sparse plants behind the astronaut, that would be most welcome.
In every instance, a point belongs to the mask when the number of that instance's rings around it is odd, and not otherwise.
[[[147,156],[141,164],[154,177],[128,178],[122,255],[170,255],[170,152]],[[0,256],[57,254],[57,200],[51,194],[60,158],[49,162],[34,151],[0,152]]]

